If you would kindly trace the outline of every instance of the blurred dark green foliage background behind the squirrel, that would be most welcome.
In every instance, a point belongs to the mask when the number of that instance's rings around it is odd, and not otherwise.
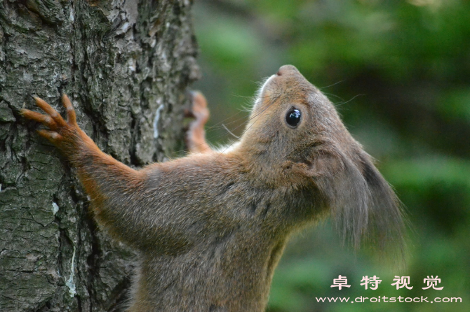
[[[215,145],[243,132],[262,78],[293,64],[377,159],[412,224],[405,269],[342,248],[327,220],[297,234],[269,312],[470,311],[470,1],[195,1]],[[224,129],[224,125],[227,129]],[[349,289],[330,288],[347,276]],[[380,276],[365,290],[362,276]],[[412,290],[396,290],[394,276]],[[443,290],[423,290],[427,276]],[[317,303],[316,297],[461,297],[462,303]]]

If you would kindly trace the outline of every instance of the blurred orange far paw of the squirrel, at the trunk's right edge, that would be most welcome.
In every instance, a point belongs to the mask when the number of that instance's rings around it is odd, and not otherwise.
[[[204,125],[209,119],[209,109],[207,108],[206,98],[201,92],[192,92],[191,111],[184,113],[185,117],[195,118],[186,132],[186,146],[189,153],[208,153],[212,151],[206,142],[206,132]]]

